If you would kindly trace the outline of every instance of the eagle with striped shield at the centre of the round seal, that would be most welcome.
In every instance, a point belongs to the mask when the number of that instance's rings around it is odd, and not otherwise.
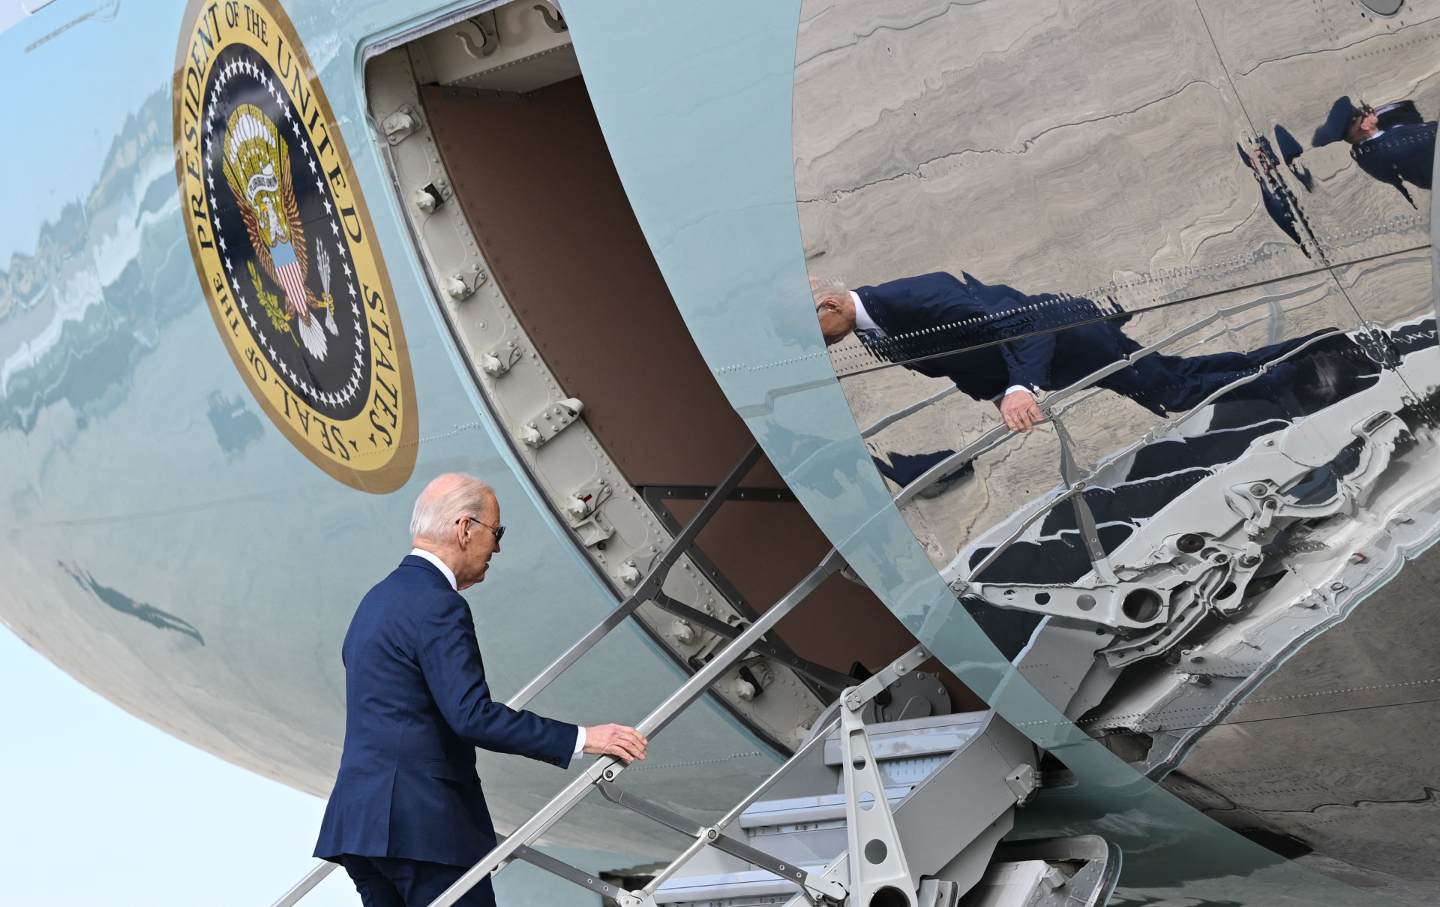
[[[317,297],[310,289],[310,255],[289,171],[289,148],[275,122],[253,104],[236,107],[226,127],[225,181],[255,249],[255,259],[249,262],[255,295],[278,333],[297,340],[317,361],[324,361],[330,348],[325,333],[338,333],[336,299],[330,292],[330,255],[315,243],[321,285]],[[255,261],[259,261],[271,285],[284,294],[284,304],[279,294],[265,285]],[[320,312],[324,312],[324,327]]]

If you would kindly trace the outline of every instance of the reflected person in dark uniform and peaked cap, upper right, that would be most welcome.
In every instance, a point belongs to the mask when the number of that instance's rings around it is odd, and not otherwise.
[[[1361,170],[1388,183],[1416,207],[1407,183],[1428,190],[1434,176],[1436,121],[1426,121],[1414,101],[1371,107],[1349,96],[1331,105],[1315,131],[1316,147],[1345,140]]]

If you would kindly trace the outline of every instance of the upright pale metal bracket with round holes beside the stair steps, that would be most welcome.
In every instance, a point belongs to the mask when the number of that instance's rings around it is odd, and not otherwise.
[[[919,893],[900,847],[900,831],[886,799],[884,777],[876,764],[865,721],[860,708],[850,707],[860,695],[858,687],[847,690],[842,697],[847,708],[840,713],[851,903],[871,904],[880,895],[881,903],[899,907],[904,897],[906,907],[919,907]]]

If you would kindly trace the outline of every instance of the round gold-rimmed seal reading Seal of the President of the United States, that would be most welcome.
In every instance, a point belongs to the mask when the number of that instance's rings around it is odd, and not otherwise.
[[[399,488],[416,456],[400,314],[344,138],[276,0],[192,3],[174,130],[190,253],[251,393],[334,478]]]

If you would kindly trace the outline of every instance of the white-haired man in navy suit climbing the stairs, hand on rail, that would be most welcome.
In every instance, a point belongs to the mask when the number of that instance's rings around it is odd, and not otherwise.
[[[631,727],[576,727],[490,698],[459,590],[485,579],[500,502],[442,475],[415,502],[415,549],[361,599],[346,633],[346,743],[315,857],[346,867],[364,907],[419,907],[495,847],[474,747],[559,767],[582,752],[645,757]],[[459,901],[494,907],[490,880]]]

